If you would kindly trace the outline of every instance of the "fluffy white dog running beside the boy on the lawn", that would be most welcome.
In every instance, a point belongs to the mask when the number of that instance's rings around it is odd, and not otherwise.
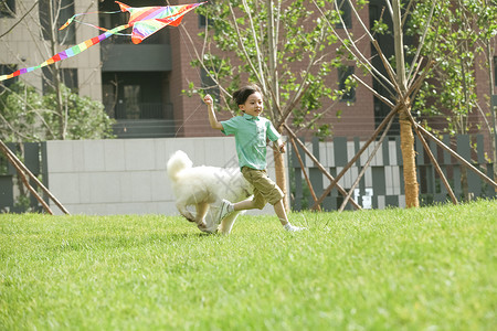
[[[197,223],[203,232],[213,233],[218,229],[229,234],[239,212],[229,214],[221,224],[216,223],[215,215],[221,201],[245,200],[253,193],[252,185],[237,168],[192,166],[193,162],[181,150],[176,151],[168,161],[167,171],[172,182],[178,211],[188,221]],[[187,206],[194,206],[195,213],[192,214]],[[210,211],[210,207],[213,207],[213,211]]]

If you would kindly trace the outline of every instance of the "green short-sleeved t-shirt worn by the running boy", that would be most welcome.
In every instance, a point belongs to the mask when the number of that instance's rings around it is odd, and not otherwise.
[[[224,135],[235,136],[240,168],[266,169],[266,140],[276,141],[281,137],[267,118],[243,114],[221,125]]]

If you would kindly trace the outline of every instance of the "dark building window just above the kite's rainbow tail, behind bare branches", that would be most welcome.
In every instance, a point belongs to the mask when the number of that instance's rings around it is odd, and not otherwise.
[[[71,24],[62,31],[59,30],[59,28],[64,25],[74,15],[74,0],[40,0],[38,7],[44,40],[52,39],[51,30],[53,26],[54,36],[60,44],[76,43],[75,24]],[[52,12],[50,11],[51,8]]]

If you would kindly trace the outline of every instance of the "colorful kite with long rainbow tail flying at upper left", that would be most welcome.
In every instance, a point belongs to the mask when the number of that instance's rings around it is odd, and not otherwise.
[[[88,47],[96,45],[97,43],[109,38],[113,34],[120,34],[119,31],[123,31],[130,26],[133,26],[131,41],[134,44],[139,44],[146,38],[156,33],[157,31],[159,31],[160,29],[162,29],[167,25],[178,26],[181,23],[181,20],[183,19],[183,15],[187,12],[189,12],[190,10],[192,10],[205,2],[181,4],[181,6],[139,7],[139,8],[129,7],[119,1],[116,1],[116,3],[119,4],[121,12],[126,12],[126,11],[129,12],[130,17],[129,17],[129,21],[127,24],[119,25],[112,30],[107,30],[104,28],[88,24],[96,29],[103,30],[105,32],[98,36],[88,39],[87,41],[84,41],[75,46],[72,46],[71,49],[60,52],[59,54],[50,57],[49,60],[46,60],[45,62],[43,62],[40,65],[28,67],[28,68],[22,68],[12,74],[9,74],[9,75],[1,75],[0,81],[17,77],[19,75],[30,73],[34,70],[50,65],[52,63],[77,55],[81,52],[86,51]],[[112,13],[116,13],[116,12],[112,12]],[[88,14],[88,13],[75,14],[74,17],[68,19],[67,22],[64,25],[62,25],[59,30],[65,29],[73,21],[81,22],[81,21],[76,20],[76,17],[84,15],[84,14]],[[81,22],[81,23],[83,23],[83,22]],[[87,23],[85,23],[85,24],[87,24]]]

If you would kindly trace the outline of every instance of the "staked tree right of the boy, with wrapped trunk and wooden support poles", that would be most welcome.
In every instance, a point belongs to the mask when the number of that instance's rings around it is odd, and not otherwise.
[[[388,105],[391,108],[390,114],[383,119],[383,121],[380,124],[380,126],[377,128],[373,136],[368,140],[368,142],[361,148],[361,150],[356,154],[356,157],[352,158],[352,160],[349,161],[348,166],[345,167],[345,171],[355,162],[360,154],[366,150],[366,147],[371,143],[371,141],[378,136],[380,129],[382,129],[389,121],[391,121],[392,117],[394,115],[399,115],[399,119],[401,122],[401,149],[402,149],[402,158],[403,158],[403,172],[404,172],[404,184],[405,184],[405,203],[406,206],[419,206],[419,197],[417,197],[417,181],[416,181],[416,168],[415,168],[415,151],[414,151],[414,139],[413,139],[413,129],[417,137],[420,138],[426,153],[429,154],[431,161],[435,166],[435,170],[437,171],[438,175],[442,179],[442,182],[444,183],[448,194],[451,195],[451,199],[454,203],[457,203],[457,199],[454,196],[454,193],[448,184],[448,182],[445,179],[444,173],[438,167],[437,161],[435,160],[429,145],[425,141],[424,137],[429,137],[430,139],[434,140],[438,146],[441,146],[444,150],[448,151],[454,158],[456,158],[465,168],[468,168],[476,172],[480,178],[488,181],[491,185],[494,185],[497,189],[497,183],[490,180],[488,177],[486,177],[482,171],[473,167],[468,161],[464,160],[461,156],[458,156],[456,152],[454,152],[452,149],[446,147],[442,141],[436,139],[432,134],[430,134],[425,128],[423,128],[421,125],[419,125],[414,118],[412,113],[412,100],[416,96],[422,83],[425,81],[427,74],[430,73],[431,68],[434,65],[433,58],[430,56],[426,60],[424,60],[423,56],[421,56],[421,50],[425,45],[426,36],[429,35],[429,30],[432,26],[434,20],[434,10],[437,6],[437,2],[431,2],[430,11],[426,13],[425,18],[425,24],[423,25],[422,33],[419,35],[417,44],[415,46],[415,52],[413,52],[413,57],[410,60],[410,65],[405,63],[404,57],[404,40],[403,40],[403,26],[404,22],[409,17],[410,8],[414,3],[414,1],[409,2],[406,8],[403,9],[403,15],[401,15],[401,2],[400,0],[388,0],[385,1],[388,12],[390,13],[392,18],[392,26],[393,26],[393,44],[395,54],[393,58],[387,58],[378,43],[378,41],[374,39],[373,34],[368,30],[366,24],[362,22],[361,18],[359,17],[357,10],[355,9],[353,3],[348,0],[350,7],[352,8],[356,17],[358,18],[360,24],[363,28],[363,31],[366,35],[369,36],[369,40],[371,41],[372,45],[378,52],[379,58],[381,58],[381,63],[383,64],[383,67],[387,72],[387,76],[383,75],[379,68],[374,67],[372,65],[371,61],[368,60],[364,54],[358,49],[356,39],[352,38],[350,33],[347,33],[346,38],[341,38],[334,29],[334,25],[329,23],[330,30],[337,38],[340,40],[342,45],[347,49],[350,56],[356,60],[356,62],[364,67],[371,76],[377,79],[387,92],[389,92],[389,95],[381,95],[377,90],[371,92],[385,105]],[[315,2],[316,4],[316,2]],[[337,1],[335,1],[335,6],[337,6]],[[318,7],[316,4],[316,7]],[[326,18],[326,15],[322,15]],[[381,22],[377,22],[381,23]],[[378,29],[381,28],[381,29]],[[372,28],[371,31],[380,31],[384,30],[381,24],[377,24],[377,26]],[[390,62],[392,61],[392,63]],[[360,82],[362,85],[368,86],[364,84],[359,77],[353,75],[353,78]],[[337,183],[337,181],[343,175],[345,171],[340,172],[340,174],[337,175],[335,181],[331,182],[331,184],[328,186],[327,190],[325,190],[325,193],[321,195],[321,197],[318,200],[317,203],[322,201],[322,197],[328,194],[329,190],[331,190],[332,185]],[[317,204],[316,203],[316,204]]]

